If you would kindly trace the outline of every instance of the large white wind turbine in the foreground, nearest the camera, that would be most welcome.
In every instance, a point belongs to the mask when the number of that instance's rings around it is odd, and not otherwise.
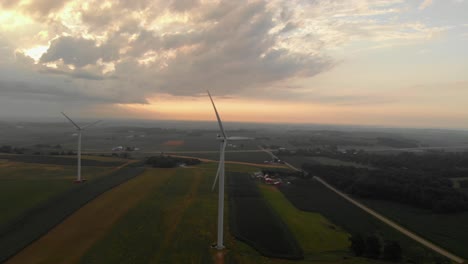
[[[221,135],[218,134],[218,140],[220,142],[220,149],[219,149],[219,164],[218,164],[218,171],[216,172],[216,177],[213,182],[212,190],[214,190],[216,186],[216,181],[219,177],[219,187],[218,187],[218,237],[216,245],[214,246],[217,250],[224,249],[223,245],[223,231],[224,231],[224,154],[227,146],[228,140],[249,140],[251,138],[248,137],[228,137],[226,132],[224,131],[223,123],[221,122],[221,118],[219,117],[218,110],[214,104],[213,98],[209,91],[208,96],[210,97],[211,104],[216,113],[216,119],[218,119],[219,129],[221,131]]]

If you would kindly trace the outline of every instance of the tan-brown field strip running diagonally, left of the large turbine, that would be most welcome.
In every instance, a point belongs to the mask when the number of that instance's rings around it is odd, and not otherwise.
[[[105,192],[6,263],[70,264],[102,238],[112,225],[174,170],[147,169],[142,175]]]

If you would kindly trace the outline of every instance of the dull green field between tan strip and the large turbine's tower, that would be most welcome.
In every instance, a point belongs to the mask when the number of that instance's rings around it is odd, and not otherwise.
[[[215,216],[209,219],[200,212],[198,217],[187,216],[188,207],[198,196],[202,172],[177,169],[158,191],[132,208],[93,245],[81,263],[168,263],[170,258],[180,261],[172,259],[169,263],[189,262],[185,258],[210,260],[209,245],[214,237],[210,236],[211,232],[199,233],[203,229],[196,225],[200,221],[214,220]],[[191,222],[188,226],[180,224],[183,216],[184,221]],[[180,227],[189,230],[184,230],[187,233],[180,236]]]

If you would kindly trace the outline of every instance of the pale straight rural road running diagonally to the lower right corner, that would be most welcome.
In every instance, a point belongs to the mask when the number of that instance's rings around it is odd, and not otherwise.
[[[260,147],[260,146],[259,146]],[[261,148],[261,147],[260,147]],[[270,154],[273,158],[277,158],[271,151],[269,150],[266,150],[266,149],[263,149],[261,148],[263,151],[265,151],[266,153]],[[300,171],[298,168],[292,166],[291,164],[289,163],[285,163],[288,167],[290,167],[291,169],[293,170],[297,170],[297,171]],[[376,211],[370,209],[369,207],[365,206],[364,204],[354,200],[353,198],[349,197],[347,194],[337,190],[336,188],[334,188],[333,186],[331,186],[330,184],[328,184],[326,181],[324,181],[323,179],[317,177],[317,176],[314,176],[313,179],[315,179],[316,181],[320,182],[321,184],[323,184],[325,187],[327,187],[328,189],[332,190],[333,192],[335,192],[336,194],[338,194],[339,196],[343,197],[344,199],[346,199],[347,201],[349,201],[350,203],[354,204],[355,206],[361,208],[362,210],[364,210],[365,212],[367,212],[368,214],[372,215],[373,217],[377,218],[378,220],[382,221],[383,223],[389,225],[390,227],[396,229],[397,231],[399,231],[400,233],[404,234],[405,236],[415,240],[416,242],[426,246],[427,248],[451,259],[452,261],[455,261],[456,263],[465,263],[465,260],[453,253],[450,253],[448,252],[447,250],[427,241],[426,239],[416,235],[415,233],[409,231],[408,229],[398,225],[397,223],[393,222],[392,220],[386,218],[385,216],[377,213]]]

